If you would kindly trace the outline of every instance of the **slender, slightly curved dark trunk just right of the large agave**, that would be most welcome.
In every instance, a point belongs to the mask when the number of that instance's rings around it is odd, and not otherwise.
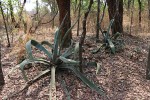
[[[85,36],[86,36],[86,21],[87,21],[87,17],[89,15],[89,12],[91,10],[91,7],[92,7],[92,4],[93,4],[93,0],[90,0],[90,4],[88,6],[88,10],[87,12],[84,14],[84,19],[83,19],[83,32],[82,32],[82,35],[81,35],[81,38],[80,38],[80,41],[79,41],[79,61],[80,61],[80,72],[83,72],[82,70],[82,46],[84,44],[84,39],[85,39]]]

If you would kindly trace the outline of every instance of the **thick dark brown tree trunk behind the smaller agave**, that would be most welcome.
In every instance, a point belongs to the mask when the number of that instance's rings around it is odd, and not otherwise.
[[[106,0],[108,5],[109,19],[114,18],[114,23],[111,27],[112,34],[123,32],[123,0]]]

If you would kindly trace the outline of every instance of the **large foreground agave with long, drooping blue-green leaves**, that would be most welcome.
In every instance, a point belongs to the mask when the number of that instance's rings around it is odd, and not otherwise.
[[[71,29],[71,28],[70,28]],[[69,30],[68,30],[69,31]],[[66,32],[65,36],[68,33]],[[92,90],[95,90],[97,93],[101,95],[105,95],[104,90],[98,86],[96,86],[93,82],[88,80],[83,73],[81,73],[78,70],[79,61],[76,61],[74,59],[70,59],[70,56],[75,57],[75,55],[78,55],[78,49],[79,49],[79,43],[76,43],[75,46],[73,46],[73,43],[70,47],[67,48],[67,50],[62,50],[62,45],[65,37],[62,40],[62,43],[59,44],[60,40],[60,28],[57,29],[55,32],[55,38],[54,38],[54,44],[49,43],[48,41],[43,41],[41,43],[35,41],[35,40],[29,40],[26,43],[26,51],[28,58],[25,59],[23,62],[21,62],[16,68],[20,68],[23,78],[27,83],[31,83],[35,81],[37,78],[50,73],[51,72],[51,79],[50,79],[50,100],[56,100],[56,84],[55,84],[55,75],[56,70],[62,70],[62,69],[69,69],[71,70],[83,83],[85,83],[87,86],[89,86]],[[47,45],[50,49],[46,49],[45,45]],[[32,46],[37,48],[38,50],[44,52],[47,55],[47,59],[43,58],[36,58],[32,54]],[[74,48],[73,48],[74,47]],[[62,52],[64,51],[64,52]],[[73,58],[72,57],[72,58]],[[42,63],[48,66],[46,70],[41,72],[38,76],[36,76],[33,80],[29,80],[26,73],[25,73],[25,65],[30,63]]]

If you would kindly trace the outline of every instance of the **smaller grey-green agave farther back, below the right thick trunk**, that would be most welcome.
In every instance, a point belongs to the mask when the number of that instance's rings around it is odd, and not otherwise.
[[[103,31],[103,44],[93,53],[97,53],[100,51],[101,48],[110,49],[113,54],[115,54],[116,51],[119,50],[119,48],[123,48],[124,42],[121,39],[118,39],[118,37],[121,35],[119,32],[113,34],[110,36],[110,29],[113,25],[114,19],[110,21],[110,24],[108,26],[107,31]]]

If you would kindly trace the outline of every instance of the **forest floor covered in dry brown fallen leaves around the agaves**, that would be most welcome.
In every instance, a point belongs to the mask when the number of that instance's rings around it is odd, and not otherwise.
[[[98,86],[102,86],[110,100],[150,100],[150,81],[145,79],[148,56],[149,36],[130,36],[124,34],[125,47],[116,54],[91,51],[97,48],[94,34],[87,34],[84,44],[84,61],[96,61],[101,64],[100,72],[96,75],[96,67],[84,66],[86,77]],[[53,41],[54,34],[38,34],[38,39]],[[75,36],[74,36],[75,37]],[[37,40],[38,40],[37,39]],[[39,39],[41,40],[41,39]],[[75,37],[75,40],[78,40]],[[15,45],[16,42],[13,43]],[[2,68],[4,76],[17,65],[17,54],[13,46],[2,45]],[[26,72],[34,77],[42,70],[39,66],[30,68]],[[84,85],[71,72],[56,73],[57,99],[67,100],[62,79],[66,81],[71,100],[103,100],[103,98]],[[46,76],[31,85],[28,89],[18,93],[9,100],[48,100],[50,76]],[[17,92],[25,84],[21,71],[17,69],[10,77],[5,77],[5,85],[0,88],[0,99]]]

